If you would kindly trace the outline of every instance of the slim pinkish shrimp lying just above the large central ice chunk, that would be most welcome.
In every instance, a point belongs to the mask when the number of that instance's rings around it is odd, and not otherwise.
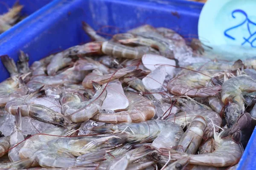
[[[119,69],[113,74],[103,74],[99,70],[94,70],[90,74],[84,77],[84,80],[82,82],[82,85],[84,88],[93,88],[93,82],[99,83],[99,85],[103,85],[107,82],[111,82],[115,79],[119,79],[123,76],[126,76],[128,74],[134,74],[136,69],[136,66],[126,67]],[[137,71],[136,71],[137,72]]]

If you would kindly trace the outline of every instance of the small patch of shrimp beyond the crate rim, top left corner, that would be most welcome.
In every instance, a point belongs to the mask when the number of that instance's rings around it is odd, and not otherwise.
[[[17,1],[8,12],[0,15],[0,34],[9,30],[17,22],[22,20],[22,17],[20,16],[22,8],[23,6]]]

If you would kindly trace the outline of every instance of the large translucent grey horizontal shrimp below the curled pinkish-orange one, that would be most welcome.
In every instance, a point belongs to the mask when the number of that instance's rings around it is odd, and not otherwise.
[[[172,129],[172,130],[170,130]],[[93,127],[95,132],[125,132],[128,134],[128,142],[152,142],[152,145],[160,147],[176,146],[183,135],[181,127],[166,120],[148,120],[140,123],[122,123],[113,126]]]

